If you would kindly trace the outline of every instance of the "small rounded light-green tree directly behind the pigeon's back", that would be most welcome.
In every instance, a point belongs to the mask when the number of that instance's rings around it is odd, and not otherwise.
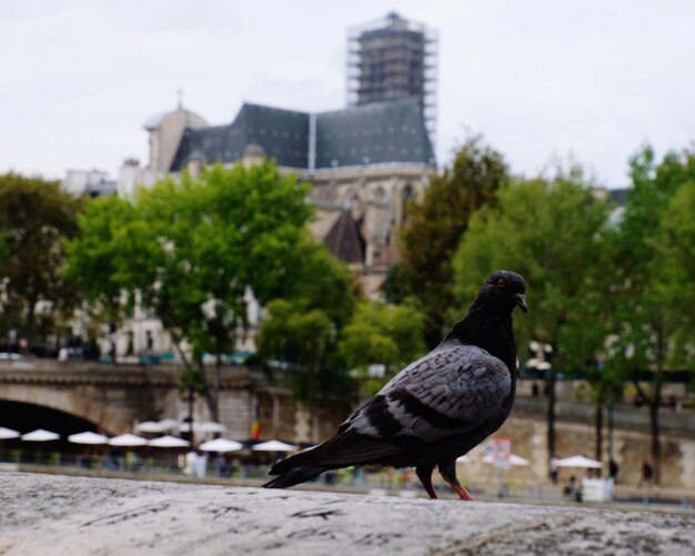
[[[357,372],[364,394],[375,394],[401,368],[422,356],[422,316],[412,306],[365,301],[357,305],[339,344],[348,366]],[[383,365],[383,376],[370,375]]]

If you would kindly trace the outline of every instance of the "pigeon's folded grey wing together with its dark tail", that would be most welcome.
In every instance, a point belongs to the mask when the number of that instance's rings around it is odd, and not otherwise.
[[[271,474],[383,462],[473,431],[500,411],[511,385],[510,370],[485,350],[440,347],[394,376],[335,436],[276,463]]]

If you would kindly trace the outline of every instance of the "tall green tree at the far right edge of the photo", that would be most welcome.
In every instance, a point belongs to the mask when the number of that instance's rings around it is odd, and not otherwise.
[[[692,153],[667,153],[657,163],[651,146],[631,159],[633,188],[622,222],[610,236],[614,259],[614,336],[607,364],[631,381],[649,411],[652,463],[661,481],[658,410],[668,371],[684,364],[683,325],[689,320],[692,292],[678,280],[687,276],[686,246],[693,216]],[[678,234],[683,233],[683,237]],[[678,250],[683,249],[683,253]],[[691,280],[692,280],[691,274]],[[692,283],[692,282],[689,282]]]

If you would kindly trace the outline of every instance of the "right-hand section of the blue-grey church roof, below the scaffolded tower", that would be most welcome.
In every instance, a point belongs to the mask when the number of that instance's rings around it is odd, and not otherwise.
[[[435,163],[417,99],[379,102],[316,117],[315,168],[393,162]]]

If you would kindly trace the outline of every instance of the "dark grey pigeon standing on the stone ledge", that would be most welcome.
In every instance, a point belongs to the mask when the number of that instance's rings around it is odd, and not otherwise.
[[[456,458],[506,421],[516,391],[512,311],[525,313],[526,285],[497,271],[465,317],[429,354],[411,363],[319,446],[275,463],[266,488],[285,488],[328,469],[371,464],[415,467],[436,498],[437,467],[461,499],[473,497],[456,478]]]

